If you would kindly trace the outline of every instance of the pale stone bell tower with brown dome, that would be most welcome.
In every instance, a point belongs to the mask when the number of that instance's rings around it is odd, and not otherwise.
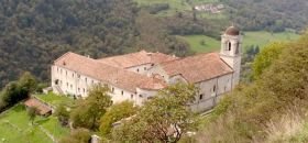
[[[240,30],[235,26],[230,26],[221,35],[220,58],[223,59],[233,70],[232,88],[240,81],[241,73],[241,48],[242,36]]]

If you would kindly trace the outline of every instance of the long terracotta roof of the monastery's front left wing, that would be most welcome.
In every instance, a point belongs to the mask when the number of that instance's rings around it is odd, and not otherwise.
[[[97,59],[72,52],[68,52],[56,59],[54,64],[132,92],[135,92],[136,88],[141,87],[141,85],[153,80],[145,75],[113,67]],[[155,82],[162,85],[161,87],[164,87],[163,80],[155,80]],[[153,87],[152,89],[156,89],[156,87]]]

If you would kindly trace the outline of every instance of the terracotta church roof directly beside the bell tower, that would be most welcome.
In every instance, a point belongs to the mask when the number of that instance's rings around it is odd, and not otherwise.
[[[182,75],[189,82],[199,82],[233,73],[218,53],[198,54],[182,59],[162,63],[167,75]]]

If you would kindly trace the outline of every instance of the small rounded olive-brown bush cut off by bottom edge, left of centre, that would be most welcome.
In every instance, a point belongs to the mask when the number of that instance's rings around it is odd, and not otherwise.
[[[89,143],[91,139],[90,131],[87,129],[76,129],[70,134],[61,139],[59,143]]]

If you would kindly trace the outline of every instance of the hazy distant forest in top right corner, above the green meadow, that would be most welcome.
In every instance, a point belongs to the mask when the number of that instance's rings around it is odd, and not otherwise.
[[[221,0],[231,21],[243,30],[301,31],[308,23],[307,0]]]

